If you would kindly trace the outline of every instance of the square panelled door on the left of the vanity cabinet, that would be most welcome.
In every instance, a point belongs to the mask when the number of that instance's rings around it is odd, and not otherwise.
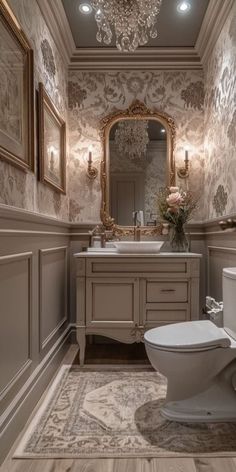
[[[134,327],[139,320],[136,278],[87,278],[86,325]]]

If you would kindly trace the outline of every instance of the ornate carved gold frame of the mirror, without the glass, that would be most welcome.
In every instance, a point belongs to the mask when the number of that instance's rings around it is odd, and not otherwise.
[[[103,145],[103,157],[101,161],[101,221],[104,228],[106,230],[112,231],[113,234],[118,236],[128,236],[134,233],[134,227],[116,225],[114,218],[112,218],[109,214],[109,134],[112,126],[122,119],[151,119],[159,121],[165,127],[167,134],[167,186],[175,185],[174,144],[176,127],[174,120],[169,115],[163,112],[149,110],[149,108],[147,108],[147,106],[139,100],[135,100],[128,109],[111,113],[101,121],[100,136]],[[161,234],[162,225],[159,224],[155,227],[142,226],[141,231],[144,235]]]

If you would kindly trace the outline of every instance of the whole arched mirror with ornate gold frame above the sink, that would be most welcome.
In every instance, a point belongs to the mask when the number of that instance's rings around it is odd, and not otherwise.
[[[156,194],[175,185],[175,124],[164,113],[135,101],[102,121],[101,220],[106,229],[158,233]]]

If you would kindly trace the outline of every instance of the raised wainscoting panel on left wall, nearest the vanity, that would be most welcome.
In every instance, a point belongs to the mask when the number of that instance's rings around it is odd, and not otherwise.
[[[39,346],[43,351],[67,321],[67,246],[40,250]]]

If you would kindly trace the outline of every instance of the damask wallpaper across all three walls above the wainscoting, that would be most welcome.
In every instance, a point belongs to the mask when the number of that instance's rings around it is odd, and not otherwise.
[[[86,176],[88,148],[99,169],[102,117],[124,110],[134,99],[168,113],[177,126],[175,158],[189,147],[189,188],[200,196],[195,220],[236,212],[236,3],[201,71],[69,71],[54,44],[36,0],[9,0],[35,53],[35,88],[42,81],[67,121],[67,195],[61,195],[0,161],[0,203],[58,219],[96,222],[100,181]],[[205,85],[205,87],[204,87]],[[204,98],[205,88],[205,98]],[[67,103],[68,99],[68,103]],[[37,142],[35,146],[36,159]],[[184,181],[177,182],[184,185]],[[152,186],[155,193],[155,185]],[[153,196],[154,198],[154,196]]]

